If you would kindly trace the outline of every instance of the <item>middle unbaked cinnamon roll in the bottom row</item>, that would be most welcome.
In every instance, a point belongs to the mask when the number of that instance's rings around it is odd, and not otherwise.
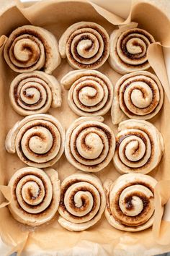
[[[70,231],[89,229],[102,217],[106,199],[99,178],[77,172],[61,184],[58,222]]]

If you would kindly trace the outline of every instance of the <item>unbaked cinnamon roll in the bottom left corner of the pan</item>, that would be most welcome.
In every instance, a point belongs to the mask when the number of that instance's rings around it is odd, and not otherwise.
[[[12,202],[8,208],[19,222],[39,226],[50,221],[58,210],[61,182],[52,168],[21,168],[9,181]]]

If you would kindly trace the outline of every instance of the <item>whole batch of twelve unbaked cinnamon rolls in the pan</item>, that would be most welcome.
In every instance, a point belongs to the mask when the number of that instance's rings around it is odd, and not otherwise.
[[[101,25],[78,22],[59,42],[42,27],[24,25],[6,38],[4,59],[21,74],[10,85],[12,107],[24,117],[6,135],[5,148],[26,163],[9,181],[14,218],[39,226],[56,218],[70,231],[83,231],[105,213],[116,229],[140,231],[153,224],[156,179],[148,176],[164,153],[158,129],[146,121],[164,103],[164,91],[150,67],[147,50],[155,40],[138,24],[117,27],[109,36]],[[53,70],[67,59],[73,67],[58,82]],[[99,67],[109,61],[124,74],[113,86]],[[61,87],[79,119],[65,131],[58,119],[45,114],[61,106]],[[104,124],[111,109],[118,133]],[[61,183],[55,163],[65,152],[77,170]],[[120,176],[115,182],[90,173],[111,161]]]

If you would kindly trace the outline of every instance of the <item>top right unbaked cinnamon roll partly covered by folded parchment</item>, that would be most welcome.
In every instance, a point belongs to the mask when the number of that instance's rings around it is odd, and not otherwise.
[[[120,74],[151,67],[147,50],[155,40],[150,33],[137,26],[135,22],[120,26],[110,36],[109,64]]]

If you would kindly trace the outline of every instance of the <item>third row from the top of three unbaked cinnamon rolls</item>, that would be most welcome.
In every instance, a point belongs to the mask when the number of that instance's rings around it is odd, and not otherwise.
[[[164,141],[153,124],[137,119],[122,121],[115,136],[103,121],[102,116],[80,117],[65,132],[54,116],[27,116],[9,130],[5,147],[37,168],[53,166],[64,151],[74,167],[87,172],[101,171],[112,160],[121,174],[148,174],[158,166]]]

